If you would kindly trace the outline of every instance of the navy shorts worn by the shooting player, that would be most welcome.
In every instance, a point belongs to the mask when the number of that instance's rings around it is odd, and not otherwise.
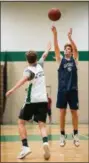
[[[77,110],[79,108],[78,91],[58,92],[56,107],[66,109],[69,104],[70,109]]]

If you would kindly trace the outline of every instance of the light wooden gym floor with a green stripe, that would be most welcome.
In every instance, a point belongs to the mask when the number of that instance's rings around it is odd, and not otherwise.
[[[1,126],[1,162],[88,162],[88,125],[79,125],[80,146],[75,147],[72,140],[72,126],[66,126],[68,134],[66,146],[59,145],[59,126],[47,125],[50,138],[51,158],[43,158],[42,141],[37,125],[27,125],[28,140],[32,153],[25,159],[17,156],[21,150],[21,141],[17,125]]]

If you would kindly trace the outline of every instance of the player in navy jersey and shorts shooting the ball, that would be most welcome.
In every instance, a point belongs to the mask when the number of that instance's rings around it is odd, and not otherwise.
[[[57,30],[52,26],[55,58],[59,64],[58,68],[58,94],[57,108],[60,108],[60,146],[64,146],[65,141],[65,117],[67,104],[70,106],[73,124],[73,142],[79,146],[78,137],[78,79],[77,79],[77,47],[72,40],[72,29],[68,32],[70,44],[64,46],[64,57],[60,53],[58,45]]]

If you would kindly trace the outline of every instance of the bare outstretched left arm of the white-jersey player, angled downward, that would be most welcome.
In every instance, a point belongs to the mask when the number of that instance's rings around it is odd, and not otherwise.
[[[23,77],[21,80],[19,80],[16,85],[10,89],[7,93],[6,96],[9,96],[10,94],[12,94],[16,89],[18,89],[19,87],[21,87],[26,81],[28,81],[28,77]]]

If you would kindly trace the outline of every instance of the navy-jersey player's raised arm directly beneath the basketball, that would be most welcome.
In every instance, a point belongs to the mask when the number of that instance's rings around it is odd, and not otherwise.
[[[53,32],[55,58],[56,58],[56,61],[60,61],[61,60],[61,54],[60,54],[60,48],[58,45],[57,30],[56,30],[55,26],[52,26],[52,32]]]

